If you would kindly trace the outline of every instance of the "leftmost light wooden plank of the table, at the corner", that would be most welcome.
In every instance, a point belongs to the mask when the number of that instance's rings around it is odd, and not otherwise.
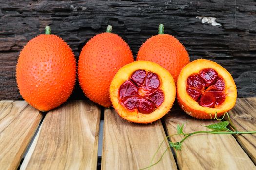
[[[42,114],[25,101],[0,102],[0,169],[14,170],[33,137]]]

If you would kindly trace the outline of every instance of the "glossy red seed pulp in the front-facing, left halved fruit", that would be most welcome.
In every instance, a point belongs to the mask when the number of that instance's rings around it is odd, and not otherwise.
[[[120,86],[120,102],[130,111],[137,109],[140,113],[149,114],[164,101],[160,85],[161,81],[157,74],[137,70]]]

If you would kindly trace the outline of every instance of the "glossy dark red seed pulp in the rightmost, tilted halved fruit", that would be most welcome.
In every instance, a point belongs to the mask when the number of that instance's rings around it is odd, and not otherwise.
[[[225,99],[225,81],[212,68],[202,69],[187,79],[187,93],[200,106],[214,108]]]

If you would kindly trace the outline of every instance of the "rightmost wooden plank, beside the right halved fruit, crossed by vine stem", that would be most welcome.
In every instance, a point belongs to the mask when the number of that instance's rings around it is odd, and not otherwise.
[[[238,131],[256,131],[256,98],[238,98],[229,114]],[[256,164],[256,134],[234,136]]]

